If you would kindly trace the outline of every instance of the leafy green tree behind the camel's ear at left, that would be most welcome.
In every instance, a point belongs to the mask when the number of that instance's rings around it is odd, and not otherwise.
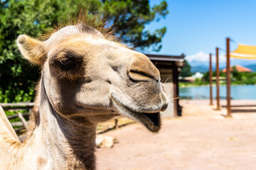
[[[65,7],[64,7],[65,6]],[[28,67],[16,46],[18,35],[36,37],[53,26],[52,18],[75,11],[71,1],[1,1],[0,3],[0,102],[31,101],[38,79],[36,67]]]

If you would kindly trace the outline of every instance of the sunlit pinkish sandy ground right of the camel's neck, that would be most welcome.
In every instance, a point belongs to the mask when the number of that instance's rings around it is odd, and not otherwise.
[[[225,108],[216,111],[208,101],[184,100],[183,117],[164,119],[159,134],[139,124],[107,132],[119,143],[97,149],[97,169],[254,170],[256,101],[232,105],[233,118],[224,118]]]

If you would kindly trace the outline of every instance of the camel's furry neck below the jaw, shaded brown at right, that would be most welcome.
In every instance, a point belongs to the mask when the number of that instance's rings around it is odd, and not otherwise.
[[[51,105],[43,81],[40,90],[40,122],[34,132],[43,153],[37,162],[52,169],[95,169],[97,124],[85,118],[63,118]]]

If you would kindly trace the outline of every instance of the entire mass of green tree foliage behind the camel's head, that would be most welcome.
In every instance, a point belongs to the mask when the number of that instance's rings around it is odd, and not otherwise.
[[[107,25],[114,23],[115,33],[123,42],[142,50],[161,49],[166,28],[154,33],[144,28],[166,16],[166,1],[150,7],[149,0],[0,0],[0,102],[33,100],[39,69],[28,67],[22,59],[16,46],[18,35],[37,37],[83,8],[90,8],[91,14],[100,13],[100,18],[109,21]]]

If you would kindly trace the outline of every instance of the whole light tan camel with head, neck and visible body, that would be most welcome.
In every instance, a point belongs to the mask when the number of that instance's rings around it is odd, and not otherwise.
[[[168,98],[142,53],[82,22],[17,45],[41,79],[24,142],[0,109],[1,169],[94,170],[97,123],[119,116],[159,132]]]

